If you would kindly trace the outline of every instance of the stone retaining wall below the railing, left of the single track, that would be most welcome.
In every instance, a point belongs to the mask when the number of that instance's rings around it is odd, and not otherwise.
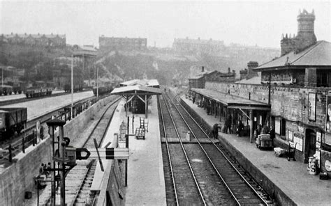
[[[64,136],[78,138],[82,129],[95,113],[113,99],[107,97],[92,105],[79,116],[64,125]],[[45,129],[45,134],[47,134]],[[16,159],[16,160],[15,160]],[[41,163],[52,161],[52,140],[47,137],[35,147],[27,148],[25,154],[18,154],[14,163],[0,174],[0,205],[22,205],[24,193],[35,187],[34,177],[38,175]]]

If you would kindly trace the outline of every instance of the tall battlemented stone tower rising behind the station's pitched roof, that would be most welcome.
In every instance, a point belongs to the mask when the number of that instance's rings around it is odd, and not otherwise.
[[[314,33],[314,10],[308,13],[307,10],[299,10],[297,15],[297,35],[282,35],[281,38],[281,56],[288,52],[301,52],[303,49],[316,43]]]

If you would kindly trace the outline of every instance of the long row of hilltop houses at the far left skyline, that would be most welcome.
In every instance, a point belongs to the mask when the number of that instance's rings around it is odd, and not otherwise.
[[[2,34],[0,42],[12,45],[29,45],[41,47],[65,47],[66,35],[51,34]]]

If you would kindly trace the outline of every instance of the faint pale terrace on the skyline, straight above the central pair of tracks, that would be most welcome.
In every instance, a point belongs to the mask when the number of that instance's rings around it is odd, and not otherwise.
[[[193,54],[219,54],[224,49],[224,42],[218,40],[201,40],[198,38],[175,38],[172,49],[175,52],[187,52]]]

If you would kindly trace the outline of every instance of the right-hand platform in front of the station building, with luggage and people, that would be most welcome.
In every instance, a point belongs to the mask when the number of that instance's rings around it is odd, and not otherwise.
[[[218,118],[207,115],[191,100],[184,96],[181,98],[211,128],[219,123]],[[309,175],[307,164],[276,157],[273,150],[259,150],[255,143],[249,143],[249,136],[237,137],[219,132],[219,141],[240,159],[240,164],[244,162],[245,168],[249,168],[256,180],[272,189],[270,195],[277,196],[281,205],[330,205],[331,180],[320,180],[319,175]]]

